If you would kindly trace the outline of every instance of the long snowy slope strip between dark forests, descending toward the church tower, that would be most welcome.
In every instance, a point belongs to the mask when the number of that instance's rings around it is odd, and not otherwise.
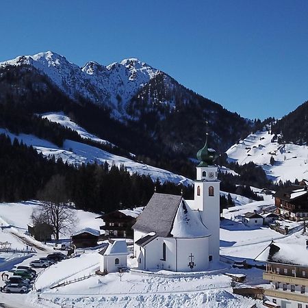
[[[14,135],[14,133],[10,133],[7,129],[0,129],[0,133],[5,133],[5,135],[9,136],[11,140],[17,138],[19,142],[23,141],[28,146],[33,146],[38,153],[42,153],[42,155],[46,157],[54,155],[55,159],[61,158],[64,162],[68,162],[68,164],[74,164],[77,166],[80,164],[93,164],[94,162],[97,162],[97,164],[107,162],[110,166],[113,164],[116,166],[124,164],[129,172],[138,172],[140,175],[150,175],[154,181],[158,178],[162,183],[165,181],[182,183],[183,185],[189,185],[192,183],[190,179],[181,175],[175,175],[164,169],[134,162],[126,157],[114,155],[81,142],[65,140],[63,147],[59,148],[55,144],[33,135],[21,133],[17,136]]]

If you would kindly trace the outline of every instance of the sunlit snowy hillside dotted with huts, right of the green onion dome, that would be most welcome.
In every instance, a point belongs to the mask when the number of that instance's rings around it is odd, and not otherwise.
[[[229,161],[240,165],[254,162],[275,182],[307,179],[308,146],[279,144],[272,140],[273,137],[266,130],[251,133],[228,149],[226,153]],[[274,159],[273,165],[270,164],[271,157]]]

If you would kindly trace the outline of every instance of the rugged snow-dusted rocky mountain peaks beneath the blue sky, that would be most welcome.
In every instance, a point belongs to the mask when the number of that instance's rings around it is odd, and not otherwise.
[[[47,75],[71,99],[84,97],[92,103],[107,105],[116,118],[127,116],[126,105],[136,92],[159,70],[138,59],[125,59],[108,66],[88,62],[83,68],[68,62],[66,57],[47,51],[36,55],[23,55],[0,63],[33,66]]]

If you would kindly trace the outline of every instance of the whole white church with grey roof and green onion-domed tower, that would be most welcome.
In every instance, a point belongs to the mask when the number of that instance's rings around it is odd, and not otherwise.
[[[133,225],[133,254],[140,270],[201,271],[219,261],[216,152],[206,141],[197,158],[194,200],[155,193]]]

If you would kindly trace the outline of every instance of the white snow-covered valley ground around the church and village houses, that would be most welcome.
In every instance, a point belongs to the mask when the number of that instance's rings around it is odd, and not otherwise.
[[[220,229],[220,253],[232,259],[254,259],[274,240],[285,240],[288,237],[272,231],[266,227],[251,229],[235,220],[235,216],[253,209],[271,206],[270,196],[265,201],[248,203],[249,199],[238,197],[238,204],[224,212],[226,219]],[[38,207],[38,201],[23,203],[0,204],[0,217],[10,229],[19,233],[25,231],[32,209]],[[98,229],[100,220],[97,215],[84,211],[77,211],[79,224],[76,229],[92,227]],[[233,220],[230,220],[233,216]],[[12,227],[14,226],[14,227]],[[5,231],[6,232],[6,231]],[[293,238],[299,233],[292,235]],[[303,239],[301,239],[303,240]],[[23,243],[20,243],[23,246]],[[23,265],[29,264],[31,259],[46,256],[49,253],[38,250],[37,255],[30,259],[19,259]],[[166,273],[156,276],[142,272],[127,272],[122,277],[118,274],[107,274],[105,277],[94,274],[99,268],[101,255],[99,249],[88,250],[73,259],[68,259],[44,270],[38,277],[34,291],[25,295],[1,294],[0,303],[12,303],[12,307],[59,307],[59,305],[74,305],[74,307],[263,307],[261,302],[243,298],[232,294],[230,278],[222,273],[179,274],[177,277],[168,277]],[[129,264],[133,262],[129,261]],[[14,263],[16,264],[16,263]],[[13,265],[14,265],[13,264]],[[230,268],[225,264],[228,272],[247,275],[247,283],[251,285],[265,283],[261,279],[261,270],[255,268],[242,270]],[[90,275],[90,277],[88,277]],[[88,277],[85,280],[61,287],[53,286],[64,281]],[[40,289],[40,292],[36,290]],[[38,293],[40,299],[38,299]],[[10,301],[12,298],[12,301]],[[18,304],[19,303],[19,304]],[[18,306],[23,303],[23,306]]]

